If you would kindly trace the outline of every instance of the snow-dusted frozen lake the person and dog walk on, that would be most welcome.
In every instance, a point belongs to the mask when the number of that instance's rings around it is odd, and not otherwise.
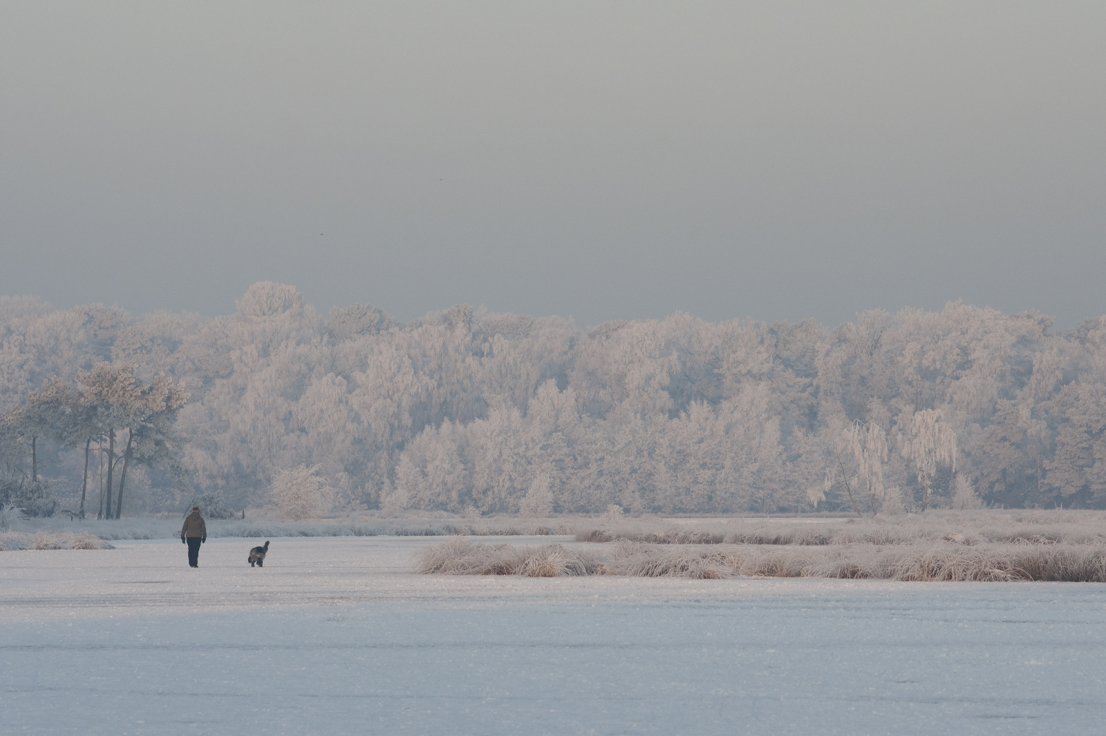
[[[545,544],[550,537],[494,542]],[[263,540],[261,540],[263,542]],[[461,578],[418,537],[0,553],[6,734],[1100,734],[1106,586]]]

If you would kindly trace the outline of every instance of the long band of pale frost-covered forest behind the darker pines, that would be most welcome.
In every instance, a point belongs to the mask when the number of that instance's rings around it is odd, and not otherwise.
[[[82,416],[46,397],[91,401],[97,370],[171,383],[174,408],[144,416],[160,455],[107,409],[96,432],[33,429],[40,404]],[[324,317],[270,282],[215,318],[2,297],[0,409],[6,487],[49,475],[76,498],[91,451],[112,515],[262,505],[301,466],[334,508],[397,512],[1106,506],[1106,318],[1057,332],[959,302],[834,329],[676,314],[581,330],[467,305]]]

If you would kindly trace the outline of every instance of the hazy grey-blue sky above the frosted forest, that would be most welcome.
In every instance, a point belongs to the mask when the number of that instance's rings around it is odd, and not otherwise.
[[[1106,313],[1106,4],[6,2],[0,294]]]

